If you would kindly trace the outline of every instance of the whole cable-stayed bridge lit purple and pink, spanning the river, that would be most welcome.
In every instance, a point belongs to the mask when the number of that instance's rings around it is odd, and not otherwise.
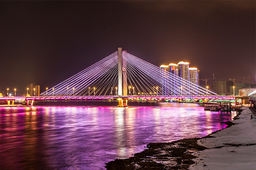
[[[128,99],[233,99],[233,97],[218,96],[139,59],[122,48],[49,88],[40,96],[23,98],[27,100],[27,105],[28,101],[33,100],[118,99],[119,106],[127,105]]]

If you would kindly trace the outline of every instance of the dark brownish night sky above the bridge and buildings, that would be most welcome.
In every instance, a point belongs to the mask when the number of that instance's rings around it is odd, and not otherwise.
[[[244,0],[0,1],[0,89],[45,91],[118,47],[156,66],[189,62],[200,78],[255,83],[255,9]]]

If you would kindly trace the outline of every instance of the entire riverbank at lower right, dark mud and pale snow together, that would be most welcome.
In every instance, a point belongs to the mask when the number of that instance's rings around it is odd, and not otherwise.
[[[251,119],[252,112],[249,108],[244,107],[241,111],[238,119],[226,122],[228,128],[203,138],[149,143],[148,149],[128,159],[110,161],[105,167],[113,170],[237,169],[236,167],[255,169],[256,119]]]

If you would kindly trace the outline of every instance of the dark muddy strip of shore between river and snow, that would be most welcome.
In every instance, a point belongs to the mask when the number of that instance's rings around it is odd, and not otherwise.
[[[241,114],[242,110],[237,110],[237,116]],[[220,122],[227,124],[228,127],[234,125],[234,123]],[[220,130],[218,130],[220,131]],[[215,131],[211,134],[215,134]],[[197,144],[197,140],[204,138],[214,138],[211,134],[202,138],[188,138],[180,139],[167,143],[149,143],[147,149],[140,153],[136,153],[133,157],[127,159],[115,159],[106,163],[106,169],[108,170],[133,170],[133,169],[188,169],[189,165],[194,164],[192,160],[196,156],[191,155],[195,151],[202,151],[207,149],[204,146]]]

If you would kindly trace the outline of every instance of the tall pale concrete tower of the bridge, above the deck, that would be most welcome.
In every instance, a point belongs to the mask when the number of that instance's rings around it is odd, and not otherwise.
[[[123,49],[118,48],[118,96],[127,96],[127,61]]]

